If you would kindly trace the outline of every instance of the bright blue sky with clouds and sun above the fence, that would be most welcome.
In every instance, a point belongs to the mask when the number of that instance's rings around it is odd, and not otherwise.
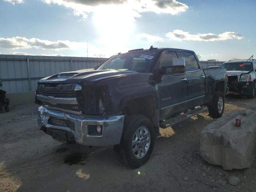
[[[0,54],[107,58],[153,45],[256,58],[256,0],[0,0],[0,19]]]

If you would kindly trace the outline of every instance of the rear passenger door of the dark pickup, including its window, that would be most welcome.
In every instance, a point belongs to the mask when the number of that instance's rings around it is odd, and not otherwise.
[[[193,52],[180,51],[186,62],[188,78],[188,109],[202,104],[205,95],[205,74]]]

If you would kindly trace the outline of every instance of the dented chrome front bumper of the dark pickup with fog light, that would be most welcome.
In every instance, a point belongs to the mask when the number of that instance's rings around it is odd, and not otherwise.
[[[38,108],[38,125],[60,142],[110,146],[120,143],[124,116],[75,115],[41,106]],[[101,128],[100,132],[97,132],[97,126]]]

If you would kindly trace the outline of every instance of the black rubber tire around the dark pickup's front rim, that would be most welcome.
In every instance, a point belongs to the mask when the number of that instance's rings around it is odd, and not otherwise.
[[[135,132],[142,126],[145,126],[149,130],[150,144],[145,155],[142,158],[136,158],[134,152],[132,151],[132,141],[134,140]],[[125,117],[121,142],[120,144],[114,146],[114,150],[121,164],[124,164],[130,168],[138,168],[145,164],[150,158],[154,148],[154,141],[154,127],[150,119],[143,115],[130,115]],[[144,141],[142,141],[142,144],[144,144]]]

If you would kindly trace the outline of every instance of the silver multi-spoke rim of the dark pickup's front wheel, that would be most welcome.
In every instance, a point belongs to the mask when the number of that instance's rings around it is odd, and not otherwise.
[[[150,146],[150,132],[146,126],[139,127],[132,138],[132,153],[140,159],[144,157]]]

